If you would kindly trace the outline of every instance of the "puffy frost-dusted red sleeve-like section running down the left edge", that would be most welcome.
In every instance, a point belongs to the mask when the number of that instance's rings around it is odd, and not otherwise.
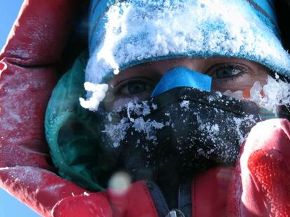
[[[48,164],[44,114],[76,0],[25,0],[0,54],[0,186],[42,216],[83,189]]]

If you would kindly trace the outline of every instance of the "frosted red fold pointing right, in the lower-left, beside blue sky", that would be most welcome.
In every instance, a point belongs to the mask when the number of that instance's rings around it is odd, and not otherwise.
[[[41,216],[51,216],[51,210],[63,198],[85,192],[76,184],[36,167],[1,168],[0,186]]]

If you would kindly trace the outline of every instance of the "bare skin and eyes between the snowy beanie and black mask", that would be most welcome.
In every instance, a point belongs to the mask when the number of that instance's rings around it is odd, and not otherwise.
[[[211,76],[212,91],[243,91],[244,98],[249,97],[254,82],[265,84],[268,75],[264,66],[244,59],[215,57],[151,61],[127,68],[109,80],[109,91],[104,100],[107,110],[125,105],[133,99],[148,100],[160,78],[177,67]]]

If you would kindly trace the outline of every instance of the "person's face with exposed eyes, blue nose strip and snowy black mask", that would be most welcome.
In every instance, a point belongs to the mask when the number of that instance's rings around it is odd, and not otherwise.
[[[192,84],[206,82],[205,77],[212,83],[204,91],[184,85],[191,79]],[[167,59],[127,68],[109,80],[103,101],[109,113],[102,115],[108,156],[136,180],[144,179],[139,177],[143,170],[156,177],[174,171],[187,179],[212,165],[234,165],[244,137],[261,120],[255,103],[221,93],[240,91],[240,98],[247,99],[254,83],[263,86],[267,79],[261,64],[224,57]],[[183,82],[155,94],[172,80]]]

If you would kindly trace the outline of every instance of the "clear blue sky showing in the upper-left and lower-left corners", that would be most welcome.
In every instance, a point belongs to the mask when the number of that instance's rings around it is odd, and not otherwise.
[[[6,38],[18,16],[21,4],[22,0],[0,1],[0,47],[6,43]],[[0,188],[0,216],[36,217],[39,215]]]

